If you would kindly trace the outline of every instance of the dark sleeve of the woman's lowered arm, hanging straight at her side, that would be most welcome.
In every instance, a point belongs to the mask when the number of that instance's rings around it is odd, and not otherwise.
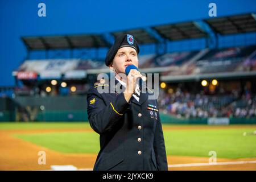
[[[166,146],[164,144],[164,136],[162,124],[160,122],[160,115],[156,123],[155,136],[154,136],[154,151],[156,156],[156,165],[159,171],[167,171],[168,164],[166,158]]]

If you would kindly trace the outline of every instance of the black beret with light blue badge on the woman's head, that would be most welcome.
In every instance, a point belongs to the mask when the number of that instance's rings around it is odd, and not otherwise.
[[[120,35],[115,39],[114,44],[112,45],[112,47],[110,47],[106,55],[105,64],[107,65],[107,67],[110,65],[110,63],[112,63],[118,49],[122,47],[132,47],[137,51],[137,54],[139,53],[139,45],[133,35]]]

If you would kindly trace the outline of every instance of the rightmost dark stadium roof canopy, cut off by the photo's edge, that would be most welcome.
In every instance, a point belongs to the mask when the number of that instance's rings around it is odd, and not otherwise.
[[[204,20],[213,31],[221,35],[256,31],[255,14],[242,14]]]

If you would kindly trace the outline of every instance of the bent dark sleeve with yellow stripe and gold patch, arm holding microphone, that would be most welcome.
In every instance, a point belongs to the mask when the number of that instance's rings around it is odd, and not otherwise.
[[[105,133],[123,117],[123,113],[129,107],[123,93],[119,94],[110,103],[105,103],[96,88],[89,89],[87,94],[87,113],[90,126],[98,134]]]

